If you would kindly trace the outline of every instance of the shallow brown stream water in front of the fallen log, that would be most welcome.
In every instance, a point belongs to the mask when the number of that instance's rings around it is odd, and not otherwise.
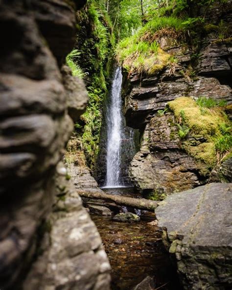
[[[94,215],[92,219],[112,266],[112,290],[132,290],[147,276],[155,277],[155,289],[181,289],[156,226],[144,220],[119,223]]]

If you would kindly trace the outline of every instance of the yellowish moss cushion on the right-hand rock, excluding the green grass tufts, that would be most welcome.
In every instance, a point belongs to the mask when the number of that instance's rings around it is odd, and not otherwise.
[[[189,134],[204,142],[192,142],[186,140],[182,147],[196,160],[203,161],[211,168],[217,161],[216,144],[223,133],[221,124],[228,123],[222,108],[204,108],[202,114],[201,107],[190,97],[179,97],[168,103],[168,107],[174,112],[177,122],[184,123],[189,128]],[[205,170],[205,169],[204,169]]]

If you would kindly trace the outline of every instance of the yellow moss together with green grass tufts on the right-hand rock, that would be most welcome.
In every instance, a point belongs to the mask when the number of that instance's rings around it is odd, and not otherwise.
[[[201,112],[203,106],[204,114]],[[168,107],[174,112],[180,139],[184,139],[188,133],[195,139],[195,142],[182,142],[182,147],[189,155],[212,168],[231,152],[232,127],[223,108],[216,101],[201,97],[195,102],[190,97],[179,97],[169,102]]]

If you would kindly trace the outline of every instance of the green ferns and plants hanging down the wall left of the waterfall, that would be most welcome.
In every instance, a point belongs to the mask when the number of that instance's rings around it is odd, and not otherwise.
[[[90,99],[86,112],[75,124],[74,135],[78,142],[75,149],[68,150],[67,160],[75,161],[76,155],[81,164],[85,164],[86,159],[87,165],[93,169],[98,154],[102,104],[107,93],[115,37],[103,1],[90,0],[85,8],[77,11],[77,19],[75,49],[67,58],[72,61],[70,67],[80,69],[79,76],[86,83]],[[81,154],[83,151],[85,156]]]

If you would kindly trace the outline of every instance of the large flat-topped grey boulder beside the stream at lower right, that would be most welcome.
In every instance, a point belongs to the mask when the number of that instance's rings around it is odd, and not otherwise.
[[[184,289],[232,287],[232,183],[168,196],[156,209]]]

